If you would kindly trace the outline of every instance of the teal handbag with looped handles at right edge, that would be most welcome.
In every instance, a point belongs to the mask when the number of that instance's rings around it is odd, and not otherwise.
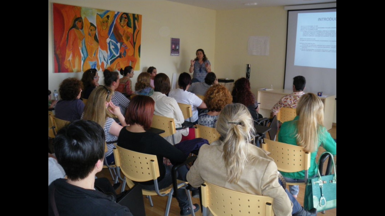
[[[337,208],[337,174],[333,154],[330,152],[323,152],[321,156],[323,154],[330,154],[330,159],[333,162],[334,174],[321,176],[320,169],[317,169],[318,176],[308,179],[305,187],[305,200],[303,203],[306,210],[316,208],[317,212],[319,212]],[[318,161],[318,164],[320,164],[320,161]]]

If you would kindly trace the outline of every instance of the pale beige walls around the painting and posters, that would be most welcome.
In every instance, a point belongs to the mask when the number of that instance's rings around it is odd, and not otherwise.
[[[211,69],[219,78],[238,79],[246,75],[251,64],[251,89],[283,88],[285,76],[287,11],[284,7],[263,7],[239,10],[209,10],[164,0],[52,0],[48,5],[48,88],[58,89],[67,77],[81,78],[81,73],[53,73],[52,2],[81,7],[138,13],[143,15],[141,70],[154,66],[158,73],[188,72],[195,51],[204,49]],[[167,34],[167,32],[169,32]],[[268,36],[268,56],[248,55],[249,36]],[[170,56],[170,38],[181,39],[181,55]],[[99,72],[103,83],[102,72]],[[268,111],[262,111],[268,116]],[[333,122],[336,123],[336,110]]]

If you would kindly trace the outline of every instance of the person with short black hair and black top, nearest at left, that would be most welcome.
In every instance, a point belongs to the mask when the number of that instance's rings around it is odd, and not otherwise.
[[[95,179],[103,169],[104,142],[102,127],[93,121],[78,120],[60,129],[55,154],[68,179],[56,179],[48,186],[49,216],[132,216],[126,206],[115,203],[109,180]]]

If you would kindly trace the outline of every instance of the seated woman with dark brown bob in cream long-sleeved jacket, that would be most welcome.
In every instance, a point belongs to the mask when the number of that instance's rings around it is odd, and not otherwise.
[[[183,114],[181,108],[179,108],[178,103],[172,97],[167,97],[171,89],[170,79],[164,74],[160,73],[155,76],[154,79],[154,94],[150,97],[155,101],[155,112],[157,116],[164,116],[168,118],[173,118],[175,121],[175,127],[182,127],[184,122]],[[182,140],[182,136],[189,135],[189,129],[177,130],[174,134],[175,144],[179,143]],[[169,143],[172,142],[172,136],[164,137]]]

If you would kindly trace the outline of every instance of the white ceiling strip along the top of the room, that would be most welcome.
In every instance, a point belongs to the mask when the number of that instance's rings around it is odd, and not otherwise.
[[[273,7],[289,5],[309,5],[318,3],[336,3],[337,0],[167,0],[182,4],[208,8],[212,10],[231,10],[255,7]],[[258,3],[257,5],[244,5],[245,3]]]

